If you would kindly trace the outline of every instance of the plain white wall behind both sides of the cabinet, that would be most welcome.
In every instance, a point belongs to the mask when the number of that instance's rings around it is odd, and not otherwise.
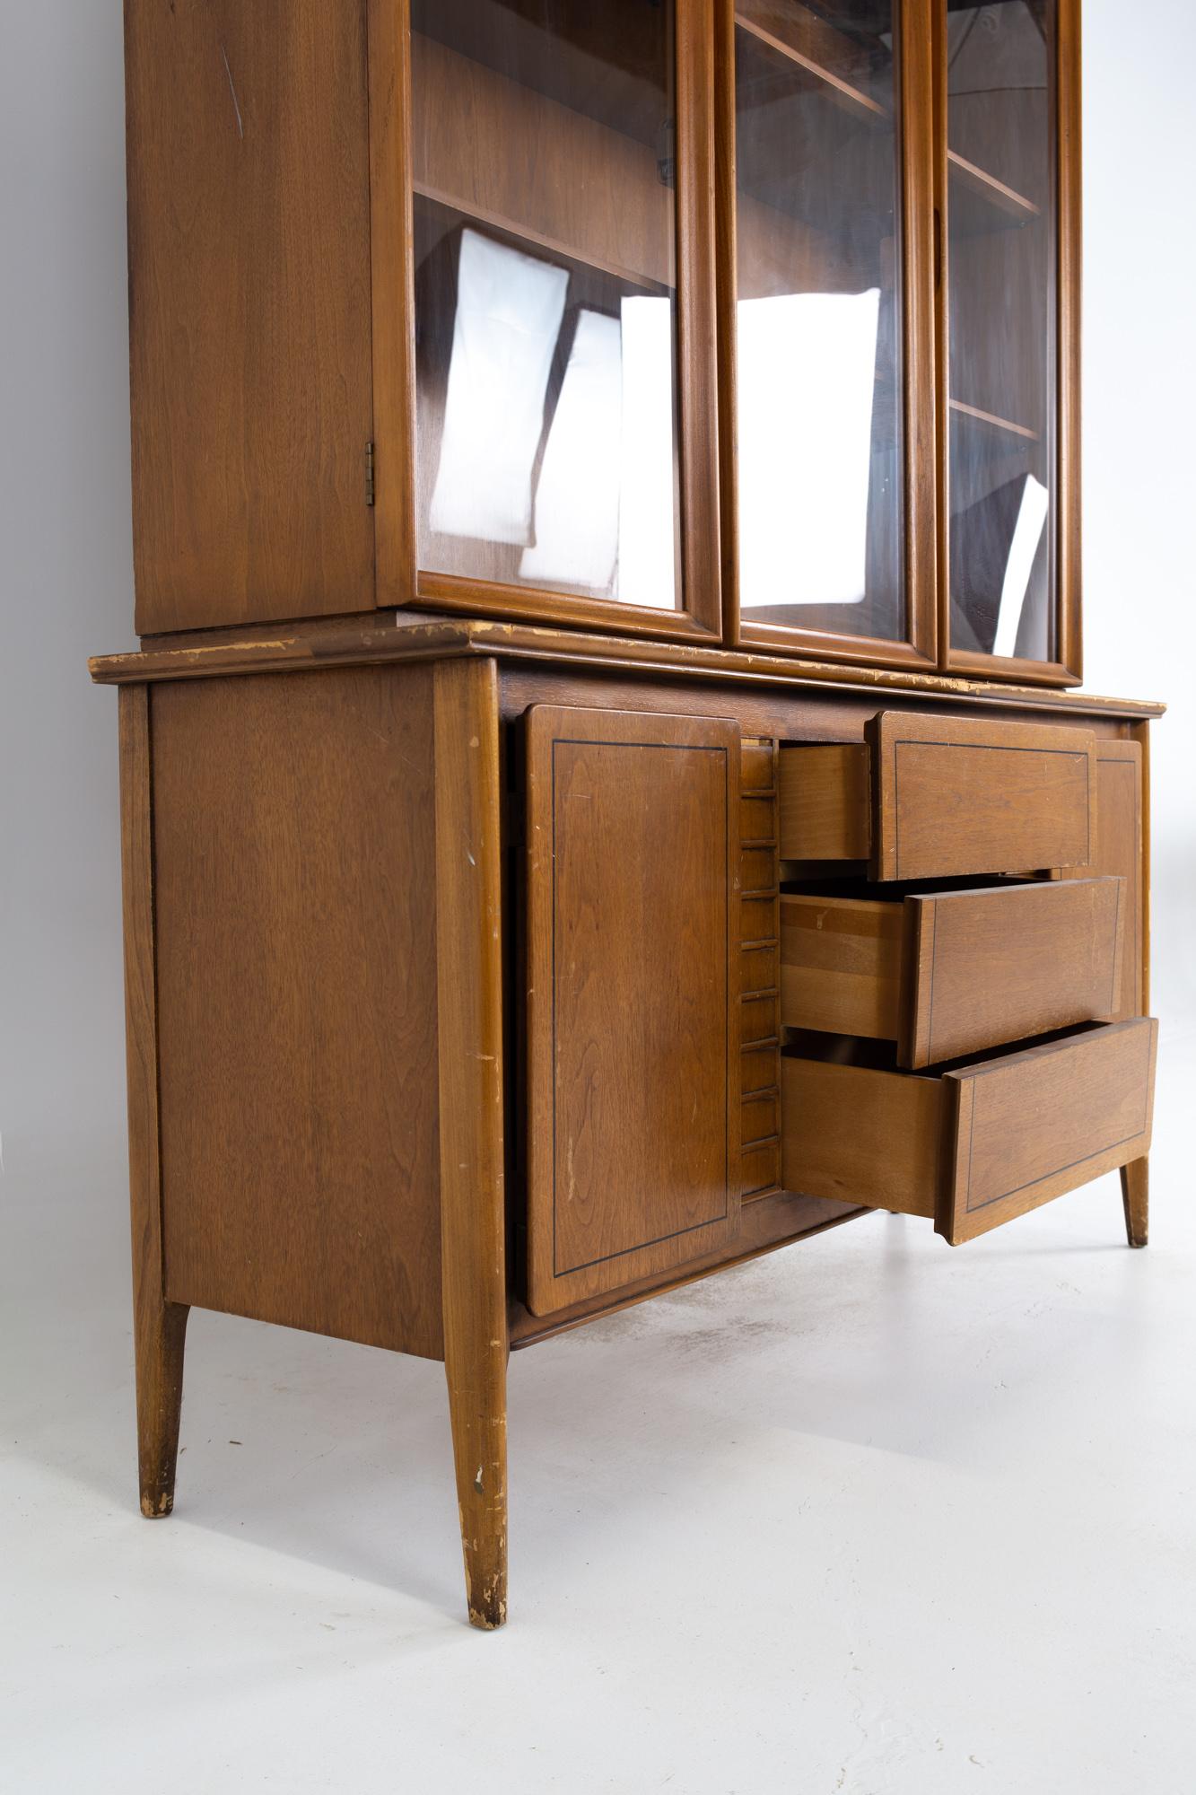
[[[1196,993],[1191,70],[1196,9],[1085,9],[1086,670],[1162,696],[1156,1007]],[[0,1129],[124,1127],[117,705],[133,646],[120,0],[0,0]]]

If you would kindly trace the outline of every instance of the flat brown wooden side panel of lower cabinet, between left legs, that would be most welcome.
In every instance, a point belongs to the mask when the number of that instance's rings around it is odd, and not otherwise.
[[[172,1301],[440,1357],[433,670],[153,691]]]

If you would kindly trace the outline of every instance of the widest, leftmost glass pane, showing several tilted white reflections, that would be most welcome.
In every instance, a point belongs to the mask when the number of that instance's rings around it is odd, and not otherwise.
[[[411,27],[418,564],[672,610],[673,5]]]

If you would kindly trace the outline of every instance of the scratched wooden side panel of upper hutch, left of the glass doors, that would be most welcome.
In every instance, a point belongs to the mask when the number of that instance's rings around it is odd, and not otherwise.
[[[126,0],[136,628],[374,607],[365,0]]]

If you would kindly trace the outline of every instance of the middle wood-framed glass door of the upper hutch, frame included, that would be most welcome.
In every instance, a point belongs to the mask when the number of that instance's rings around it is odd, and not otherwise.
[[[734,5],[743,644],[936,661],[930,50],[928,0]]]

